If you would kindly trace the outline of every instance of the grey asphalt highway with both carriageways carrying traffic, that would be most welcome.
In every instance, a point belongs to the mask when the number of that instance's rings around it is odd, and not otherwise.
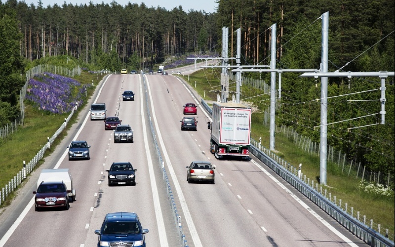
[[[124,90],[132,90],[135,101],[121,101]],[[181,131],[182,106],[199,104],[199,99],[193,88],[171,75],[106,77],[90,101],[105,102],[108,117],[130,124],[134,142],[114,143],[113,131],[105,130],[103,121],[90,121],[84,108],[67,137],[1,212],[0,247],[94,247],[94,230],[106,213],[118,211],[139,215],[143,228],[149,229],[147,246],[181,246],[153,147],[146,100],[190,247],[366,246],[254,157],[216,160],[209,152],[210,116],[201,107],[197,131]],[[71,140],[86,140],[92,146],[91,159],[69,161]],[[196,160],[215,165],[215,184],[187,182],[186,166]],[[137,185],[109,187],[106,169],[123,161],[137,169]],[[77,201],[69,210],[36,212],[32,191],[40,169],[54,167],[70,169]]]

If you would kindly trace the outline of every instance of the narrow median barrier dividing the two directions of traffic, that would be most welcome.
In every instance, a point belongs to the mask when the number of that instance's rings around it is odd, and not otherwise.
[[[172,189],[171,189],[171,186],[170,186],[170,182],[169,182],[169,179],[168,179],[168,176],[167,176],[167,173],[166,173],[166,169],[164,168],[164,162],[163,162],[162,156],[160,154],[160,150],[159,150],[159,146],[158,146],[158,141],[157,141],[157,136],[156,136],[156,133],[155,133],[154,125],[153,125],[153,123],[151,121],[151,112],[150,112],[150,106],[149,106],[149,103],[148,103],[147,84],[146,84],[146,81],[145,81],[144,73],[141,72],[141,75],[143,76],[143,82],[144,82],[147,116],[148,116],[148,120],[149,120],[149,123],[150,123],[150,126],[151,126],[151,132],[152,132],[152,137],[153,137],[153,140],[154,140],[155,150],[157,151],[157,154],[158,154],[158,165],[161,166],[163,179],[164,179],[164,181],[166,183],[167,198],[169,199],[170,208],[171,208],[171,210],[173,212],[174,223],[175,223],[176,227],[178,228],[178,235],[180,237],[181,246],[182,247],[188,247],[187,240],[186,240],[186,237],[185,237],[185,234],[184,234],[184,231],[183,231],[183,228],[182,228],[182,224],[181,224],[181,216],[179,215],[178,210],[177,210],[177,206],[176,206],[176,203],[175,203],[175,200],[174,200],[173,192],[172,192]]]

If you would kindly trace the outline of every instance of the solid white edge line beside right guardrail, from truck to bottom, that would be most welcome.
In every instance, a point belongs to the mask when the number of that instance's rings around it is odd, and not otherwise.
[[[301,206],[303,206],[307,211],[309,211],[317,220],[319,220],[324,226],[326,226],[329,230],[331,230],[334,234],[336,234],[339,238],[344,240],[347,244],[352,247],[358,247],[354,242],[336,230],[331,224],[329,224],[326,220],[324,220],[321,216],[319,216],[313,209],[311,209],[307,204],[305,204],[302,200],[300,200],[295,194],[293,194],[287,187],[285,187],[280,181],[278,181],[270,172],[268,172],[265,168],[261,165],[256,163],[254,160],[251,162],[256,165],[259,169],[261,169],[266,175],[268,175],[275,183],[280,186],[286,193],[288,193],[296,202],[298,202]]]

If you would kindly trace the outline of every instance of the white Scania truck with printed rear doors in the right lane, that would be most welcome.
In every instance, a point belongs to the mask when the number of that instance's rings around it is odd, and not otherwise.
[[[251,107],[240,103],[213,103],[210,151],[215,158],[249,157]]]

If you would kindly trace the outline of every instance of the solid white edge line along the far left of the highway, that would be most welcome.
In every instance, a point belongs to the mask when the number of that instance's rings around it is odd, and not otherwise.
[[[106,81],[103,82],[102,86],[100,87],[99,93],[96,96],[96,99],[94,101],[94,103],[96,103],[97,99],[99,98],[99,95],[102,91],[103,86],[106,84],[107,80],[110,78],[111,75],[109,75],[106,78]],[[74,136],[73,140],[76,140],[77,137],[79,136],[79,133],[81,133],[81,130],[83,128],[83,126],[85,125],[86,121],[88,120],[90,116],[90,112],[88,111],[88,114],[86,115],[81,127],[79,128],[79,130],[77,131],[76,135]],[[62,163],[62,161],[65,159],[66,155],[68,153],[68,150],[66,149],[66,151],[63,153],[63,155],[61,156],[61,158],[59,159],[59,161],[56,163],[56,165],[53,167],[54,169],[57,169],[60,164]],[[25,216],[28,214],[30,208],[32,206],[34,206],[34,198],[35,196],[33,196],[32,200],[30,200],[30,202],[28,203],[28,205],[26,205],[25,209],[23,209],[22,213],[18,216],[18,218],[15,220],[15,222],[12,224],[12,226],[8,229],[8,231],[4,234],[4,236],[0,239],[0,247],[3,247],[5,245],[5,243],[7,243],[8,239],[11,237],[11,235],[14,233],[15,229],[19,226],[19,224],[22,222],[23,218],[25,218]]]

